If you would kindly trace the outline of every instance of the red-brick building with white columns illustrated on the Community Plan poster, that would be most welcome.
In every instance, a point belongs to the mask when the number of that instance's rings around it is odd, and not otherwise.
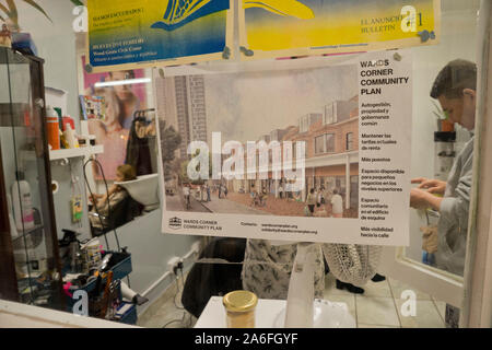
[[[294,162],[295,143],[305,142],[305,186],[302,192],[296,195],[305,200],[311,188],[324,187],[327,192],[337,188],[341,191],[344,207],[356,209],[359,202],[359,96],[327,104],[324,113],[308,113],[301,116],[296,126],[272,130],[269,135],[261,136],[258,141],[267,143],[291,141]],[[244,150],[246,165],[246,145]],[[258,160],[259,156],[256,160],[257,165]],[[266,189],[278,197],[279,186],[286,183],[286,179],[274,178],[271,168],[271,151],[269,161],[267,178],[261,179],[256,176],[256,179],[248,179],[246,173],[244,179],[226,182],[230,190],[249,191],[254,186],[257,190]]]

